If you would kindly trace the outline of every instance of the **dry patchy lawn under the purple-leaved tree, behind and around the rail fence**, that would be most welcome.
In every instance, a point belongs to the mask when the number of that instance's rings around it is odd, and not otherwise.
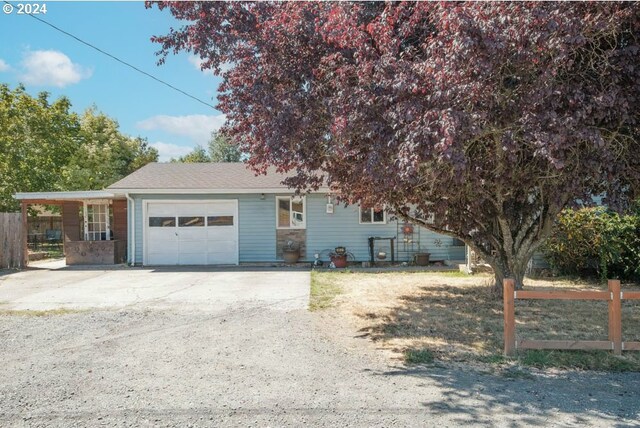
[[[502,299],[489,275],[314,272],[312,308],[331,310],[356,335],[411,363],[466,362],[611,371],[640,371],[640,352],[520,351],[502,356]],[[606,286],[567,279],[526,280],[525,288]],[[630,289],[623,284],[623,291]],[[637,288],[636,288],[637,289]],[[316,303],[314,303],[316,302]],[[519,338],[607,340],[607,302],[516,302]],[[640,301],[623,302],[623,339],[640,341]]]

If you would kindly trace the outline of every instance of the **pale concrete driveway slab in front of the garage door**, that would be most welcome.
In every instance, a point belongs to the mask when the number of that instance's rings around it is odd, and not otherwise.
[[[229,306],[292,310],[309,303],[308,271],[256,267],[67,267],[34,264],[0,276],[0,309],[196,309]]]

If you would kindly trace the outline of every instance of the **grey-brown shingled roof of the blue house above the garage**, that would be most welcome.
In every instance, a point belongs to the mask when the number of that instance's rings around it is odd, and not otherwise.
[[[106,190],[277,191],[285,175],[275,171],[256,176],[244,163],[150,163]]]

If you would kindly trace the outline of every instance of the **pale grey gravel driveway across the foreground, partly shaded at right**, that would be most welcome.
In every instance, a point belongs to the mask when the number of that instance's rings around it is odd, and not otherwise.
[[[248,302],[4,311],[0,426],[640,426],[637,373],[396,367],[331,311]]]

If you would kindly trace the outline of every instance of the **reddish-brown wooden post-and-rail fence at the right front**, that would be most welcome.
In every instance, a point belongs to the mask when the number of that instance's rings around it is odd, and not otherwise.
[[[609,302],[609,340],[516,340],[515,300],[606,300]],[[609,280],[609,291],[534,291],[515,290],[512,279],[504,281],[504,354],[517,349],[605,349],[620,355],[622,351],[640,351],[640,342],[622,340],[622,300],[639,300],[639,291],[621,292],[620,281]]]

